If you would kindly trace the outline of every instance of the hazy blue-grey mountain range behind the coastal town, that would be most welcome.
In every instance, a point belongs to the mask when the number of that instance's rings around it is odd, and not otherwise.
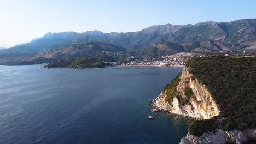
[[[46,53],[57,53],[60,50],[68,49],[69,52],[65,53],[65,56],[68,57],[69,54],[73,55],[73,50],[77,51],[78,47],[80,50],[89,49],[89,42],[95,42],[96,47],[111,45],[113,49],[107,49],[110,52],[127,50],[136,53],[137,56],[152,57],[178,52],[208,53],[220,50],[255,50],[256,19],[232,22],[207,21],[184,26],[156,25],[142,29],[142,31],[126,33],[103,33],[97,30],[83,33],[47,33],[42,38],[34,39],[30,43],[0,50],[0,53],[4,55],[38,55],[40,53],[45,58],[44,56],[48,55]],[[98,48],[98,50],[100,49],[104,50],[102,47]],[[95,53],[95,51],[85,51],[79,56],[94,55]]]

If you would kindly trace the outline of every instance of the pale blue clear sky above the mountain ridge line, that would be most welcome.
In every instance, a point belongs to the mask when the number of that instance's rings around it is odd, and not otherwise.
[[[135,32],[153,25],[256,18],[253,0],[0,0],[0,47],[48,32]]]

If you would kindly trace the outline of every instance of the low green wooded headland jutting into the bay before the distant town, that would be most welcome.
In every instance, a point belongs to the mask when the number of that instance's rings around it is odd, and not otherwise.
[[[55,61],[48,64],[48,68],[101,68],[109,65],[92,57],[69,58],[65,61]]]

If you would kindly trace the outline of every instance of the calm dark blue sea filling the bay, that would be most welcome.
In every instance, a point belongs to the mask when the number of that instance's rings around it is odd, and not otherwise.
[[[0,143],[179,143],[190,121],[148,103],[182,69],[0,65]]]

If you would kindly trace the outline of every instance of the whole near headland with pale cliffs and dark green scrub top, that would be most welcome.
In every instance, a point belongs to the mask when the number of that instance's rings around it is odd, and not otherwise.
[[[255,61],[249,58],[192,59],[162,89],[152,101],[152,107],[197,119],[191,123],[188,135],[181,140],[182,144],[256,140],[253,120],[256,97],[251,92],[255,88],[255,70]],[[226,85],[225,82],[233,84]],[[247,85],[248,82],[251,84]],[[240,83],[237,89],[236,83]],[[233,94],[231,90],[236,92]]]

